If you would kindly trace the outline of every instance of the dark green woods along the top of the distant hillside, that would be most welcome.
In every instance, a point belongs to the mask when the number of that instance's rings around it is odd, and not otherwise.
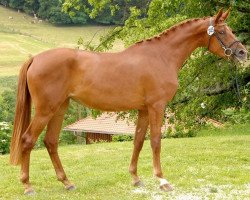
[[[123,24],[129,17],[129,8],[137,6],[144,9],[148,0],[1,0],[0,4],[62,24]],[[67,12],[64,12],[64,11]]]

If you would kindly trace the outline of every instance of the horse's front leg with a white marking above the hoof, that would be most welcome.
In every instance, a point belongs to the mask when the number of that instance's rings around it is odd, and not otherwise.
[[[148,108],[149,112],[149,124],[150,124],[150,142],[153,153],[153,169],[154,175],[160,181],[160,188],[163,191],[171,191],[173,187],[164,178],[160,153],[161,153],[161,126],[164,116],[165,102],[157,102]]]

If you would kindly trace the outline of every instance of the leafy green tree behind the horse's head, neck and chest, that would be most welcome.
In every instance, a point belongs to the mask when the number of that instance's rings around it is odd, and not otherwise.
[[[90,17],[109,8],[120,9],[119,4],[113,0],[91,0],[92,10]],[[64,8],[83,7],[79,1],[66,0]],[[115,39],[120,39],[125,46],[150,38],[169,28],[170,26],[188,19],[214,15],[219,8],[231,6],[232,12],[228,23],[236,30],[243,43],[249,44],[249,6],[246,1],[165,1],[152,0],[150,4],[144,3],[143,8],[130,4],[130,15],[124,26],[117,26],[109,35],[101,38],[96,47],[88,45],[87,48],[105,51],[112,47]],[[206,8],[206,9],[204,9]],[[66,10],[67,10],[66,9]],[[145,13],[146,12],[146,13]],[[247,34],[246,34],[247,33]],[[197,125],[202,124],[206,118],[228,120],[228,109],[235,113],[247,113],[250,109],[250,70],[249,68],[236,69],[228,61],[222,60],[212,54],[206,53],[207,49],[198,49],[184,64],[179,74],[179,92],[167,107],[169,113],[174,113],[172,122],[177,124],[177,129],[192,132]],[[237,78],[235,74],[237,75]],[[235,79],[237,79],[237,86]],[[237,89],[238,88],[238,89]],[[235,91],[238,90],[238,94]],[[240,93],[240,95],[239,95]],[[123,113],[121,115],[125,115]],[[129,112],[130,116],[135,112]],[[238,115],[240,116],[240,114]],[[246,115],[244,115],[246,116]],[[249,116],[249,115],[248,115]],[[249,117],[243,117],[249,120]],[[192,134],[191,134],[192,135]]]

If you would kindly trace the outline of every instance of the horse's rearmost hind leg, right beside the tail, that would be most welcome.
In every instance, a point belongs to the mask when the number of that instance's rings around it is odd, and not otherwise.
[[[25,194],[33,194],[34,190],[29,182],[29,164],[30,164],[30,153],[37,138],[41,134],[44,127],[52,117],[52,113],[42,114],[36,113],[33,120],[31,121],[28,129],[22,136],[22,161],[21,161],[21,182],[24,185]]]

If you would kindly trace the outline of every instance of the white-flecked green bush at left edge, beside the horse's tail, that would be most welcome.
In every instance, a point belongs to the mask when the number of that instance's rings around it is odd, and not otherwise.
[[[6,154],[10,152],[10,127],[7,122],[0,122],[0,154]]]

